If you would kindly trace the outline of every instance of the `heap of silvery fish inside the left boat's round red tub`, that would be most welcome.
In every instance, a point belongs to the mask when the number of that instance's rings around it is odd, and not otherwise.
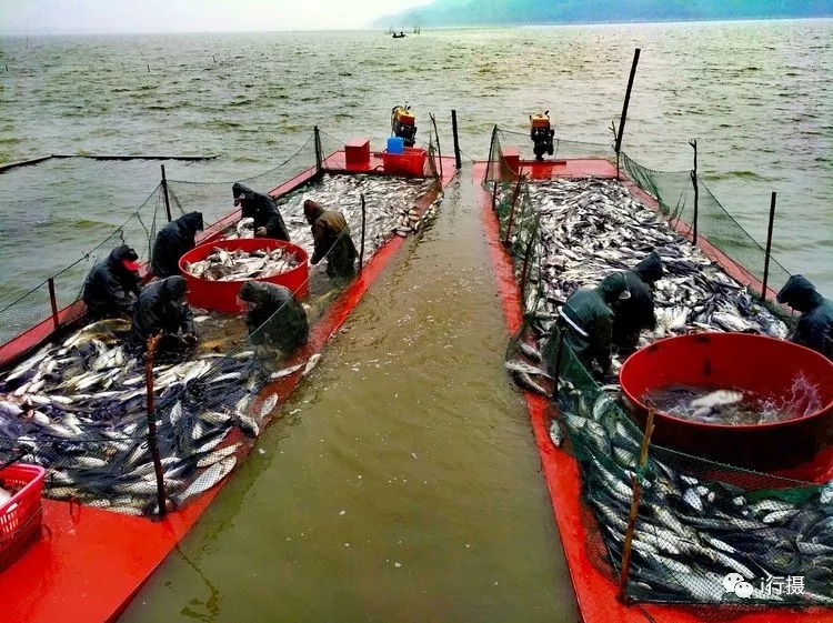
[[[242,281],[265,279],[298,267],[298,255],[279,247],[271,251],[228,251],[215,247],[212,253],[199,262],[185,262],[185,272],[209,281]]]

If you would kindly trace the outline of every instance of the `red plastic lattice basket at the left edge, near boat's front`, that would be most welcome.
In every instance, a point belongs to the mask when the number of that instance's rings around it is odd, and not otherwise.
[[[0,471],[0,486],[16,492],[0,504],[0,570],[20,557],[40,534],[46,473],[40,465],[23,463]]]

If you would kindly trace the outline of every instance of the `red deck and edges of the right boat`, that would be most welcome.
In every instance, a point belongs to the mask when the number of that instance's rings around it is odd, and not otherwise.
[[[524,171],[532,171],[533,174],[530,177],[534,177],[536,180],[561,177],[611,179],[616,177],[615,167],[603,160],[570,160],[559,163],[522,162],[521,164]],[[486,167],[485,162],[474,164],[473,175],[475,180],[484,179]],[[635,184],[626,182],[626,185],[634,194],[639,194],[639,199],[645,205],[658,209],[655,200],[642,191],[634,191]],[[479,192],[483,227],[489,240],[490,254],[501,292],[506,329],[514,334],[521,328],[522,314],[518,284],[512,269],[512,258],[506,253],[500,241],[498,219],[491,208],[492,198],[489,191],[481,187]],[[732,277],[739,279],[741,283],[756,287],[760,292],[761,283],[749,272],[702,239],[699,241],[699,245]],[[582,621],[585,623],[646,623],[648,621],[655,623],[703,623],[704,621],[724,620],[733,623],[830,623],[833,621],[833,611],[820,607],[807,610],[750,607],[721,612],[720,607],[712,606],[625,605],[620,602],[616,599],[618,585],[604,575],[588,555],[586,544],[590,531],[584,523],[588,521],[588,514],[583,512],[581,505],[579,464],[566,452],[556,449],[550,440],[548,423],[552,420],[554,406],[550,400],[541,395],[530,392],[524,392],[524,395]],[[816,470],[814,475],[827,473],[827,478],[830,478],[831,454],[825,453],[824,456],[820,456],[817,463],[817,465],[807,469]]]

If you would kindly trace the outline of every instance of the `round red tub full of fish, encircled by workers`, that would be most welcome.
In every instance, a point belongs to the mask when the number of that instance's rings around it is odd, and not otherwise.
[[[298,255],[298,261],[300,263],[290,271],[272,277],[251,280],[213,281],[194,277],[184,269],[185,262],[194,263],[204,260],[214,252],[214,249],[223,249],[225,251],[237,251],[238,249],[242,249],[243,251],[257,251],[259,249],[262,251],[273,251],[279,247],[283,247],[287,250],[294,252]],[[284,242],[283,240],[274,240],[271,238],[240,238],[235,240],[209,242],[191,249],[180,259],[179,269],[182,277],[188,281],[188,302],[191,305],[204,310],[217,310],[223,313],[238,313],[240,312],[240,308],[237,303],[237,295],[240,292],[240,287],[247,281],[263,281],[267,283],[284,285],[294,292],[295,299],[305,299],[309,294],[310,274],[307,258],[307,251],[291,242]]]

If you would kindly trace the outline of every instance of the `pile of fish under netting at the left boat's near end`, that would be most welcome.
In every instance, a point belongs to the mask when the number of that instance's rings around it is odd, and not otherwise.
[[[0,375],[0,459],[47,468],[49,498],[154,514],[144,368],[121,343],[129,329],[126,320],[92,323]],[[265,382],[252,350],[153,368],[158,446],[174,506],[221,481],[248,450],[247,435],[255,438],[277,406],[274,394],[260,394]]]

